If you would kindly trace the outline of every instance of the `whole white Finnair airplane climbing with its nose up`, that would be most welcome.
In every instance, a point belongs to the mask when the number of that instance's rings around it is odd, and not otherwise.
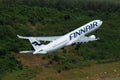
[[[102,25],[103,21],[93,20],[63,36],[48,36],[48,37],[23,37],[17,35],[18,38],[28,39],[33,46],[34,50],[20,51],[20,53],[32,53],[32,54],[46,54],[70,46],[73,44],[87,43],[89,41],[95,41],[95,35],[86,36],[87,34],[95,31]],[[49,41],[48,44],[42,44],[40,41]]]

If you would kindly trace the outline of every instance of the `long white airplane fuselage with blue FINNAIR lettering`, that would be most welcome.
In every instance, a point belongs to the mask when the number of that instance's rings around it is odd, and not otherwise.
[[[33,54],[39,54],[39,53],[45,54],[45,53],[53,52],[55,50],[63,48],[64,46],[72,45],[77,40],[79,40],[82,36],[95,31],[101,25],[102,25],[101,20],[91,21],[91,22],[73,30],[72,32],[50,42],[49,44],[47,44],[43,47],[40,47],[38,50],[33,52]]]

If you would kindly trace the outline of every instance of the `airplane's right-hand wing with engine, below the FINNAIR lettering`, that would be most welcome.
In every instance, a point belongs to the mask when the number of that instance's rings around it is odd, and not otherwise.
[[[87,36],[82,36],[80,37],[75,43],[84,43],[84,42],[89,42],[89,41],[95,41],[95,40],[98,40],[99,38],[96,38],[95,35],[91,35],[89,37]]]

